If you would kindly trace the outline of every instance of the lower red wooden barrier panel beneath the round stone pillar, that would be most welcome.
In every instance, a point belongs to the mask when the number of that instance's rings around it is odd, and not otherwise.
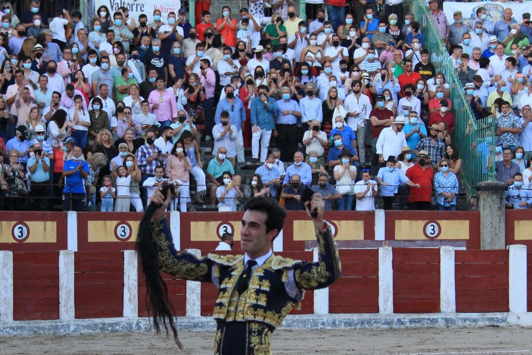
[[[508,251],[455,252],[456,312],[508,312]]]

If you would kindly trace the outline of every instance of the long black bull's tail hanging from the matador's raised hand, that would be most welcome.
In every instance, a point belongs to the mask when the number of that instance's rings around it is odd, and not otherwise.
[[[163,185],[162,194],[166,196],[168,189],[172,194],[175,193],[173,185]],[[177,336],[176,324],[173,320],[174,310],[170,300],[168,299],[168,287],[160,274],[159,261],[157,261],[157,250],[153,243],[152,237],[152,217],[157,208],[161,207],[155,203],[150,203],[146,208],[144,217],[140,220],[137,233],[136,249],[140,257],[142,271],[146,278],[146,290],[148,298],[146,299],[148,313],[152,313],[153,326],[155,331],[161,331],[160,322],[162,322],[164,329],[168,335],[168,326],[172,329],[173,339],[176,341],[179,349],[183,345]]]

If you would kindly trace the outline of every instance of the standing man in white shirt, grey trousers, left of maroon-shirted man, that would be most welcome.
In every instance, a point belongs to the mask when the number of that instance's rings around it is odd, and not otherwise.
[[[363,164],[365,163],[365,126],[369,120],[372,106],[369,97],[360,92],[362,88],[360,80],[354,80],[351,83],[351,87],[353,88],[353,93],[345,98],[344,109],[347,111],[347,126],[356,132],[359,159],[360,163]]]

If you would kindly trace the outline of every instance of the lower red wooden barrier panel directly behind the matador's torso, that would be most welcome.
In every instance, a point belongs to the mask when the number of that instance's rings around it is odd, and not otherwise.
[[[216,252],[219,254],[233,254],[234,252]],[[207,252],[202,252],[206,255]],[[292,258],[296,260],[312,261],[312,252],[281,252],[275,253],[285,258]],[[214,309],[214,302],[218,297],[218,290],[211,283],[202,283],[201,285],[201,315],[212,316]],[[301,301],[301,310],[293,310],[290,314],[312,314],[314,313],[314,293],[312,291],[305,292],[305,298]]]

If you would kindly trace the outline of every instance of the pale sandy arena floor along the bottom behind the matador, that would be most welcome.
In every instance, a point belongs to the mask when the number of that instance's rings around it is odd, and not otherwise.
[[[532,355],[530,328],[488,327],[466,329],[346,329],[278,331],[273,353],[357,355]],[[11,354],[212,354],[214,333],[180,332],[185,345],[163,335],[109,333],[72,336],[0,337],[0,353]]]

